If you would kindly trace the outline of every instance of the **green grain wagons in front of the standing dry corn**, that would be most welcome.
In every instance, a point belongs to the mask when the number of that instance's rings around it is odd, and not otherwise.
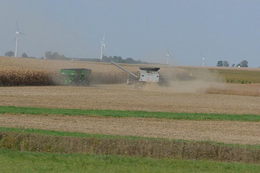
[[[70,86],[89,86],[91,69],[60,69],[63,83]]]

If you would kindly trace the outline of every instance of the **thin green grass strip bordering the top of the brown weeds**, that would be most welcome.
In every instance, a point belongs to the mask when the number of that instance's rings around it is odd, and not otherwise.
[[[54,131],[54,130],[42,130],[42,129],[25,129],[25,128],[14,128],[14,127],[0,127],[0,131],[15,132],[15,133],[33,133],[42,135],[52,136],[70,136],[79,138],[105,138],[105,139],[129,139],[129,140],[171,140],[171,141],[185,141],[185,142],[198,142],[194,140],[183,140],[183,139],[165,139],[165,138],[148,138],[140,136],[120,136],[120,135],[103,135],[93,133],[80,133],[80,132],[66,132],[66,131]],[[204,142],[204,141],[200,141]],[[222,142],[207,141],[211,144],[234,146],[234,147],[246,147],[260,149],[260,145],[244,145],[244,144],[226,144]]]

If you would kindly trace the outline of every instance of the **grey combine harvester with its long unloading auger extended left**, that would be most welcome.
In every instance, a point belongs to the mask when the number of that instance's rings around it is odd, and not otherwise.
[[[146,83],[157,83],[157,84],[166,83],[165,80],[160,77],[160,74],[158,72],[158,70],[160,69],[159,67],[139,67],[140,71],[137,72],[136,74],[133,74],[129,72],[127,69],[118,65],[117,63],[114,63],[113,61],[112,64],[116,65],[120,69],[129,73],[127,84],[135,83],[137,84],[138,88],[142,88],[142,86]],[[159,80],[161,81],[159,82]]]

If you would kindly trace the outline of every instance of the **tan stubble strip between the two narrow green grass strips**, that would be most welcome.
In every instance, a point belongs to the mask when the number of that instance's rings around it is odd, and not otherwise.
[[[0,114],[2,127],[260,144],[259,122]]]

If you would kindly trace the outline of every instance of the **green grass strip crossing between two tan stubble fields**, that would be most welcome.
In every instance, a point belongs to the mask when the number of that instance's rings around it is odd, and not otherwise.
[[[63,108],[32,108],[0,106],[0,113],[11,114],[56,114],[56,115],[99,115],[109,117],[142,117],[166,118],[177,120],[228,120],[228,121],[260,121],[260,115],[254,114],[212,114],[212,113],[174,113],[148,112],[130,110],[99,110],[99,109],[63,109]]]

